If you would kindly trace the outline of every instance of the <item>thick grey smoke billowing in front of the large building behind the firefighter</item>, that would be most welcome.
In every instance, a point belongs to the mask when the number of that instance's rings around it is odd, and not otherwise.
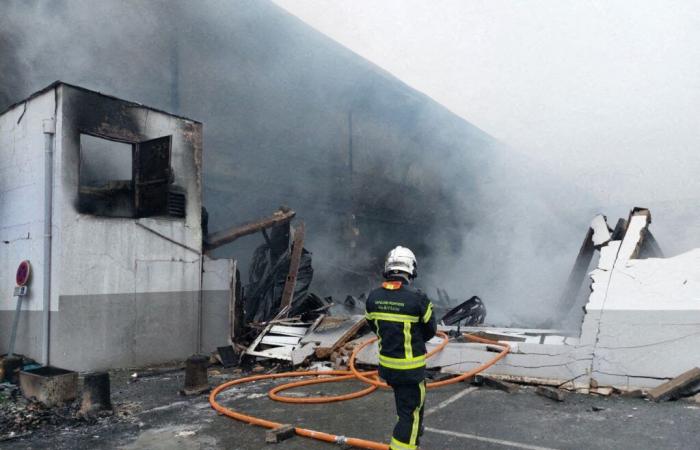
[[[591,200],[273,4],[1,5],[0,108],[61,79],[204,122],[210,230],[294,208],[320,294],[369,289],[402,244],[491,323],[557,315]]]

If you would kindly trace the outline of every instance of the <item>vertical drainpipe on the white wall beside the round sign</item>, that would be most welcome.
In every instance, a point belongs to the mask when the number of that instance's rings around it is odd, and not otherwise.
[[[53,146],[56,135],[56,119],[43,122],[44,128],[44,303],[41,325],[41,361],[49,365],[50,316],[51,316],[51,225],[53,214]]]

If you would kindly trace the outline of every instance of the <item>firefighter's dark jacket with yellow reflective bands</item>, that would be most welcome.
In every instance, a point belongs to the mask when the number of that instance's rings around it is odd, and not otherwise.
[[[365,318],[379,337],[379,375],[391,383],[425,378],[425,342],[435,336],[433,304],[418,289],[389,280],[370,292]]]

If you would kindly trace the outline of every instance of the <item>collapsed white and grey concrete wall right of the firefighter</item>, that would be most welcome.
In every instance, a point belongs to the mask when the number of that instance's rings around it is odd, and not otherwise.
[[[638,259],[653,242],[650,223],[649,211],[635,208],[624,237],[610,240],[616,233],[600,239],[608,234],[601,230],[607,225],[594,219],[596,229],[588,238],[602,246],[579,335],[462,328],[511,345],[511,352],[486,373],[577,389],[632,390],[655,387],[695,367],[700,346],[700,249],[672,258]],[[435,338],[429,349],[438,342]],[[358,361],[376,365],[376,355],[375,344],[361,351]],[[451,344],[428,360],[428,367],[461,373],[491,357],[481,344]]]

